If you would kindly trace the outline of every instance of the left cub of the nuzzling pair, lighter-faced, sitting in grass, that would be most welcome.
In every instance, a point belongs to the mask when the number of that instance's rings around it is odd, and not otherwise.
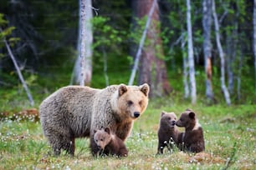
[[[157,154],[163,153],[163,149],[167,147],[171,150],[175,145],[181,143],[179,140],[182,133],[176,127],[177,116],[174,112],[161,111],[161,118],[158,128],[158,148]]]

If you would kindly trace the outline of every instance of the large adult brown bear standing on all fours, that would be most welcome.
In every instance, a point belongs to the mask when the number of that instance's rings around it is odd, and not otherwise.
[[[149,86],[112,85],[104,89],[62,87],[47,97],[39,107],[44,136],[54,153],[61,149],[74,155],[74,139],[90,137],[90,148],[98,153],[94,129],[109,127],[122,141],[128,137],[133,122],[146,110]]]

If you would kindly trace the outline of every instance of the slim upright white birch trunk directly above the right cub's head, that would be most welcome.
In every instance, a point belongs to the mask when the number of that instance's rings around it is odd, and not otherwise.
[[[192,104],[197,102],[197,86],[195,78],[195,64],[194,64],[194,52],[192,42],[192,25],[191,25],[191,5],[190,0],[187,0],[187,54],[189,65],[189,81],[190,81],[190,95]]]

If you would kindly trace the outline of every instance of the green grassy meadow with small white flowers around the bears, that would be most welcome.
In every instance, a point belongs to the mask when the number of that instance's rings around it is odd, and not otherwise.
[[[187,107],[197,112],[204,129],[206,158],[177,149],[156,155],[161,110],[179,116]],[[6,119],[0,122],[0,169],[255,169],[255,119],[253,105],[206,107],[151,100],[125,142],[127,158],[94,158],[87,138],[76,140],[74,158],[65,153],[54,157],[39,122]]]

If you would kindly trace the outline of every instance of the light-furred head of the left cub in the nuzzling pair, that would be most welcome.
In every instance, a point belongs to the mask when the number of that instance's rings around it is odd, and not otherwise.
[[[174,112],[161,112],[160,126],[164,128],[174,128],[177,116]]]

